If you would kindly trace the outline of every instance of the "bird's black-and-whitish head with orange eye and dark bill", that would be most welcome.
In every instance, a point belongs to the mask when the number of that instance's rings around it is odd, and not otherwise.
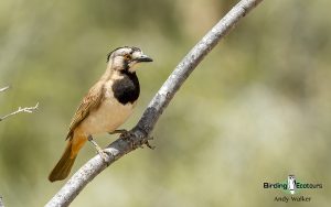
[[[142,51],[134,46],[118,47],[107,56],[108,67],[115,70],[126,70],[135,73],[138,63],[152,62],[153,59],[145,55]]]

